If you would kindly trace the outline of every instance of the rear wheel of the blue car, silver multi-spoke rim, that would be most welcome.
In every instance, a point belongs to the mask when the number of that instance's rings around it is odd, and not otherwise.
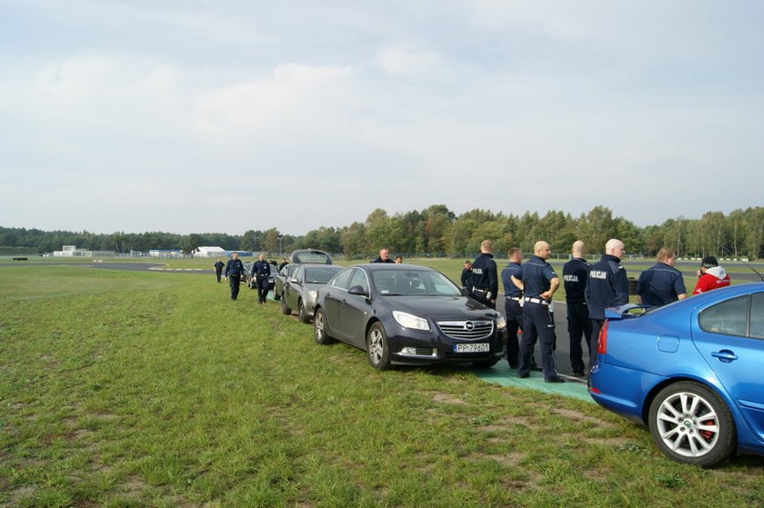
[[[700,383],[682,381],[661,390],[650,404],[648,425],[661,451],[679,463],[711,466],[737,448],[727,404]]]

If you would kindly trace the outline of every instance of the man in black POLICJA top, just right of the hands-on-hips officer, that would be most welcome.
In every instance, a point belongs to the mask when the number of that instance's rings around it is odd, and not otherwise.
[[[570,365],[573,375],[584,375],[581,338],[586,341],[591,357],[591,319],[588,315],[586,288],[591,264],[584,259],[586,245],[580,240],[570,249],[573,257],[562,266],[562,284],[565,286],[565,302],[568,304],[568,337],[570,339]]]

